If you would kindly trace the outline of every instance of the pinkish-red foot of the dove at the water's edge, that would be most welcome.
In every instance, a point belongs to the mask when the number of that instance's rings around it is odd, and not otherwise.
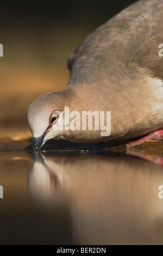
[[[163,139],[163,128],[154,132],[149,133],[147,136],[137,139],[137,141],[126,144],[126,147],[130,148],[136,145],[140,145],[145,141],[162,141]]]

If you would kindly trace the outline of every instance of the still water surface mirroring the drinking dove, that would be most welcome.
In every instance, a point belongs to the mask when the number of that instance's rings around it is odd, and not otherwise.
[[[32,154],[25,144],[0,152],[1,245],[162,244],[161,165],[111,151]]]

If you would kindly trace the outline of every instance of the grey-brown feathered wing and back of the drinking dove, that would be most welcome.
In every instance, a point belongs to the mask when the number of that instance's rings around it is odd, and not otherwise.
[[[163,44],[162,11],[162,0],[142,0],[97,28],[68,59],[69,84],[92,83],[93,77],[98,80],[99,75],[109,74],[110,66],[127,68],[131,62],[162,79],[163,58],[158,55],[158,46]]]

